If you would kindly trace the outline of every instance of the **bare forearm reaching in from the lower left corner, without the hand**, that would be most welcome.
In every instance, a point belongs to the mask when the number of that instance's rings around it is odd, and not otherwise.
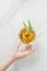
[[[5,71],[13,62],[14,62],[14,58],[13,58],[13,57],[10,57],[10,58],[0,67],[0,71]]]

